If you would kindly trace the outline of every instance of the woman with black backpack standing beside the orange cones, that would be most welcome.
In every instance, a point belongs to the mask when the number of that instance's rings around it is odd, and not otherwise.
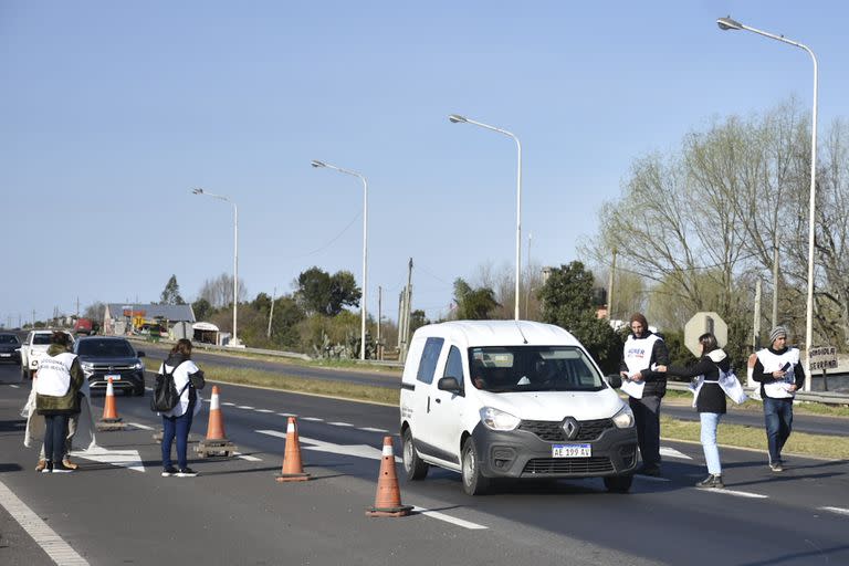
[[[174,385],[180,394],[177,406],[163,412],[163,478],[193,478],[198,473],[188,467],[186,452],[189,444],[189,431],[195,415],[200,412],[200,396],[192,385],[202,378],[203,371],[191,358],[191,342],[181,338],[171,348],[168,359],[159,366],[160,374],[171,374]],[[171,460],[171,444],[177,440],[177,468]]]

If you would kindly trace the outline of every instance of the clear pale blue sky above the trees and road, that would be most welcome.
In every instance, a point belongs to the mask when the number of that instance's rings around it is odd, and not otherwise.
[[[849,117],[841,1],[0,0],[0,325],[182,296],[233,270],[249,298],[318,266],[368,312],[448,314],[452,283],[580,260],[632,163],[712,119]]]

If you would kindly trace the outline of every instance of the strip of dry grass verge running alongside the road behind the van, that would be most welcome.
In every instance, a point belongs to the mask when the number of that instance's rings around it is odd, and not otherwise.
[[[147,368],[156,371],[159,363],[145,360]],[[235,385],[251,385],[292,391],[297,394],[323,395],[350,399],[357,401],[378,402],[389,406],[398,406],[399,390],[397,387],[374,387],[354,385],[348,381],[329,379],[305,379],[301,377],[261,371],[258,369],[222,369],[216,368],[207,373],[207,378],[212,381],[223,381]],[[680,394],[689,399],[692,395],[683,391],[670,391]],[[747,401],[759,410],[757,401]],[[794,408],[794,411],[797,409]],[[661,433],[668,440],[683,440],[699,442],[701,426],[699,422],[677,420],[661,417]],[[717,432],[720,444],[735,448],[748,448],[766,452],[766,433],[762,427],[745,427],[741,424],[720,423]],[[808,434],[794,432],[787,441],[784,451],[788,454],[810,455],[836,460],[849,460],[849,438]]]

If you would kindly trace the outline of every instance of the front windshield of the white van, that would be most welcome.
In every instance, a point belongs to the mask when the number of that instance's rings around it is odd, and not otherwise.
[[[600,391],[605,382],[589,356],[574,346],[469,348],[472,385],[492,392]]]

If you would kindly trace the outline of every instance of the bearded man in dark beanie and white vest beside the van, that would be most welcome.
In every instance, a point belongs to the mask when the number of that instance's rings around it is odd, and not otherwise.
[[[619,370],[623,379],[643,384],[641,396],[629,394],[628,398],[642,458],[639,473],[659,476],[660,400],[667,394],[667,375],[656,368],[669,365],[669,352],[663,338],[649,331],[641,313],[631,315],[630,326],[631,335],[625,340]]]

